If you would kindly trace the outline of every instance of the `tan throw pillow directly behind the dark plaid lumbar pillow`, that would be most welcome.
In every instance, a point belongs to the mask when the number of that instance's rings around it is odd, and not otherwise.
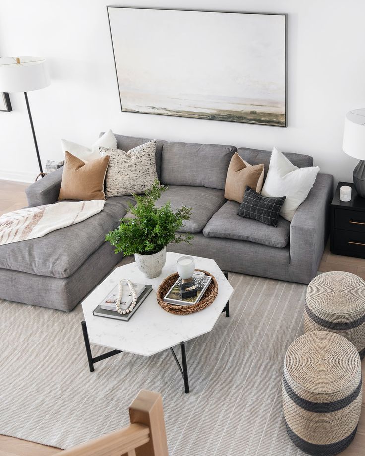
[[[227,171],[224,197],[242,203],[246,185],[260,193],[263,181],[264,164],[250,165],[235,152]]]

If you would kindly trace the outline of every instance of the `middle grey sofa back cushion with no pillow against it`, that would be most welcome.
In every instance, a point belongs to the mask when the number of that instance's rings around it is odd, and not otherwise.
[[[162,146],[161,182],[224,190],[235,152],[234,146],[166,141]]]

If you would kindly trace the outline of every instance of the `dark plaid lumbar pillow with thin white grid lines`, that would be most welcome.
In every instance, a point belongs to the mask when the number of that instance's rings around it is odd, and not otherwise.
[[[279,212],[285,198],[286,196],[280,196],[278,198],[261,196],[247,186],[237,215],[277,227]]]

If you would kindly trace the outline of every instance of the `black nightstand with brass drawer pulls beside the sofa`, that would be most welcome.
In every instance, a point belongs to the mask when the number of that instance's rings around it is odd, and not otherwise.
[[[340,200],[340,187],[351,187],[351,201]],[[365,258],[365,198],[354,184],[339,182],[331,204],[331,252]]]

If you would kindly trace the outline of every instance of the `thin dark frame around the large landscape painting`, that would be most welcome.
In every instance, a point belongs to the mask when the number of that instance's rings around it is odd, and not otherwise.
[[[269,13],[269,12],[246,12],[246,11],[223,11],[223,10],[208,10],[208,9],[183,9],[183,8],[143,8],[143,7],[134,7],[134,6],[107,6],[107,14],[108,14],[108,23],[109,23],[109,33],[110,33],[110,40],[112,44],[112,51],[113,51],[113,59],[114,59],[114,69],[116,73],[117,79],[117,87],[118,87],[118,97],[120,102],[120,107],[122,112],[127,112],[133,114],[132,111],[123,110],[122,108],[122,100],[121,100],[121,91],[119,87],[118,81],[118,73],[117,73],[117,64],[116,64],[116,57],[113,45],[113,36],[112,36],[112,28],[110,24],[110,16],[109,16],[109,8],[119,8],[119,9],[144,9],[144,10],[158,10],[158,11],[192,11],[192,12],[210,12],[210,13],[227,13],[227,14],[253,14],[253,15],[266,15],[266,16],[283,16],[284,17],[284,52],[285,52],[285,124],[284,125],[270,125],[264,123],[253,123],[253,122],[233,122],[232,120],[225,120],[225,119],[209,119],[204,118],[204,120],[213,120],[216,122],[231,122],[231,123],[242,123],[248,125],[260,125],[260,126],[270,126],[276,128],[286,128],[288,126],[288,14],[287,13]],[[160,113],[134,113],[134,114],[151,114],[151,115],[164,115],[169,117],[182,117],[182,118],[192,118],[195,120],[199,120],[196,117],[189,117],[184,115],[172,115],[172,114],[160,114]],[[203,119],[202,117],[200,119]]]

